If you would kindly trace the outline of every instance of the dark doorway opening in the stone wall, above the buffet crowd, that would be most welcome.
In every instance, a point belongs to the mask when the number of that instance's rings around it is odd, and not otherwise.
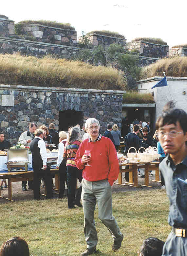
[[[83,112],[68,109],[59,111],[59,131],[68,131],[69,126],[83,126]]]

